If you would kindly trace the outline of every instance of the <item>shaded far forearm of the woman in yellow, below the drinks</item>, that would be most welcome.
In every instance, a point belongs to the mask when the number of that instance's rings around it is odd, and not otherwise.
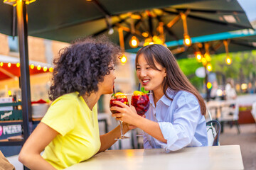
[[[127,125],[124,125],[124,134],[128,131],[129,129],[127,128]],[[120,126],[117,126],[116,128],[114,128],[114,130],[106,133],[105,135],[100,135],[101,146],[99,152],[103,152],[106,149],[110,148],[114,144],[114,142],[117,142],[117,140],[114,139],[120,137],[120,135]]]

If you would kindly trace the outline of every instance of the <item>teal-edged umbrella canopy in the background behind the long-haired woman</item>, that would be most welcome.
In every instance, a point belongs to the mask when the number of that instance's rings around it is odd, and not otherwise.
[[[228,52],[241,52],[256,50],[256,30],[237,30],[227,33],[218,33],[213,35],[204,35],[201,37],[192,38],[195,44],[191,47],[184,48],[182,46],[182,40],[169,42],[169,49],[175,53],[175,57],[185,58],[194,57],[194,52],[203,50],[205,43],[208,44],[210,54],[225,53],[225,45],[223,40],[228,42]],[[198,47],[201,46],[201,47]],[[181,48],[180,48],[181,47]],[[182,49],[178,52],[177,49]]]

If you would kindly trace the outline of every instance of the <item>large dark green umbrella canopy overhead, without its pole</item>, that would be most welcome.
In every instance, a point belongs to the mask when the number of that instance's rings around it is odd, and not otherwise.
[[[164,30],[164,41],[182,39],[181,13],[186,13],[191,37],[251,28],[245,12],[235,0],[38,0],[29,4],[27,10],[28,35],[71,42],[81,36],[107,34],[119,44],[118,28],[123,28],[124,47],[128,52],[137,51],[128,50],[132,35],[137,36],[142,46],[145,39],[142,33],[161,34],[159,23]],[[16,35],[12,13],[11,6],[0,6],[1,33]],[[109,35],[111,28],[114,32]]]

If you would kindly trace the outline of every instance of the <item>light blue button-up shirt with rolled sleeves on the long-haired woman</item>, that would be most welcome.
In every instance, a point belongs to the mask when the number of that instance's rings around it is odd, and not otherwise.
[[[206,119],[201,114],[201,107],[196,96],[186,91],[167,89],[165,95],[154,105],[153,95],[150,94],[149,111],[146,118],[159,123],[167,143],[156,140],[144,132],[144,148],[164,148],[165,152],[176,151],[183,147],[208,146]]]

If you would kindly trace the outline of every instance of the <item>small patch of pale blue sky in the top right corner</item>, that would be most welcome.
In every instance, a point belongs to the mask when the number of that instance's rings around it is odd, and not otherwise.
[[[249,21],[256,20],[256,0],[238,0],[240,6],[245,11]]]

